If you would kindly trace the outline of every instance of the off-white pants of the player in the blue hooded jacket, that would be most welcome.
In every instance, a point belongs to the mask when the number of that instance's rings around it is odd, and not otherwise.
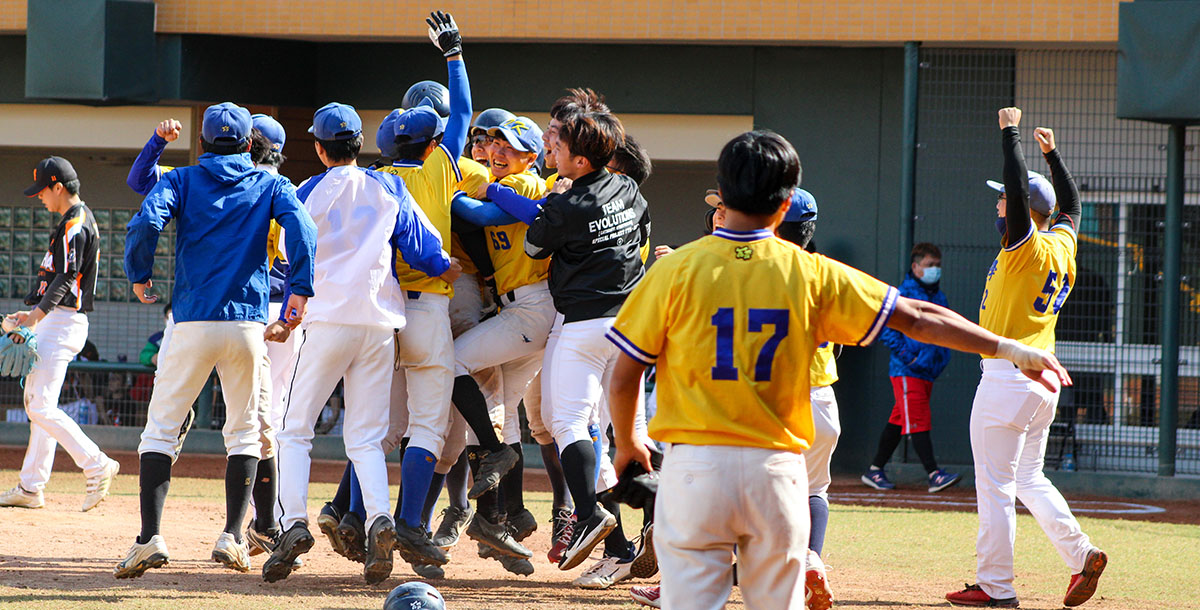
[[[146,426],[138,454],[176,456],[179,432],[215,366],[221,378],[228,455],[262,455],[259,397],[266,360],[262,322],[178,322],[170,348],[158,354]]]

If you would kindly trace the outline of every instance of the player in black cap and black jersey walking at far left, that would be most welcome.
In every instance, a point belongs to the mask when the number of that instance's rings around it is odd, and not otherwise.
[[[20,482],[0,494],[0,506],[42,508],[43,489],[50,480],[59,444],[88,478],[82,509],[96,508],[116,477],[120,465],[104,455],[79,424],[59,408],[59,393],[67,365],[88,340],[88,312],[96,295],[100,232],[91,210],[79,198],[79,177],[58,156],[34,169],[25,197],[37,197],[47,210],[62,216],[50,235],[49,249],[37,269],[34,289],[25,297],[29,311],[5,318],[4,334],[19,343],[36,340],[38,360],[24,378],[29,447],[20,466]],[[34,343],[30,343],[32,346]]]

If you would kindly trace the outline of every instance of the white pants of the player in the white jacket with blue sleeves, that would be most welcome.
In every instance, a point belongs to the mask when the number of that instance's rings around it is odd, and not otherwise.
[[[296,354],[283,429],[278,433],[280,525],[287,531],[308,522],[308,476],[313,427],[320,409],[344,379],[342,439],[362,488],[367,524],[391,514],[383,438],[388,431],[388,396],[395,361],[396,333],[390,328],[313,322],[304,328]]]

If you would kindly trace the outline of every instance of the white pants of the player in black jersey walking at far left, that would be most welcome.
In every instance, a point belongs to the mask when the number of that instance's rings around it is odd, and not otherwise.
[[[73,419],[59,408],[59,394],[67,365],[88,341],[88,316],[55,307],[34,328],[38,361],[25,376],[25,413],[29,415],[29,447],[20,465],[20,486],[37,492],[50,480],[54,450],[59,444],[86,477],[104,471],[104,453],[88,438]]]

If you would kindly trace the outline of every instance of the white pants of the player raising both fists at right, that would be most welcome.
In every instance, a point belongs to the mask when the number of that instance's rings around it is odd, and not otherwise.
[[[1062,494],[1042,473],[1058,394],[1021,373],[1008,360],[986,358],[971,406],[979,536],[976,578],[994,598],[1015,597],[1013,544],[1016,500],[1030,509],[1072,574],[1084,569],[1091,540]]]

